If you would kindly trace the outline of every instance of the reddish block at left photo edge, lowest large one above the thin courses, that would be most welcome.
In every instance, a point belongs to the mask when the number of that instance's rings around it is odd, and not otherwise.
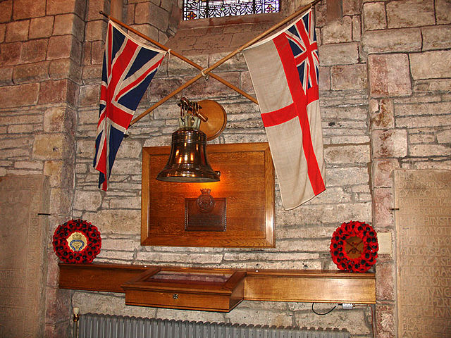
[[[38,83],[0,87],[0,107],[32,106],[37,103]]]

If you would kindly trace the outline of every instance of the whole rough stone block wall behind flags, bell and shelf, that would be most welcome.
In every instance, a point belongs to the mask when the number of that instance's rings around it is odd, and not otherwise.
[[[124,1],[123,20],[162,43],[175,43],[177,2]],[[304,2],[288,1],[297,7]],[[0,2],[0,175],[49,175],[49,239],[56,225],[81,217],[101,231],[99,262],[333,269],[328,245],[342,222],[366,221],[380,234],[395,238],[390,212],[393,168],[451,168],[449,1],[343,0],[343,16],[333,21],[326,20],[326,1],[321,1],[316,6],[316,30],[326,192],[283,211],[276,187],[274,249],[140,246],[141,149],[170,144],[182,95],[214,99],[224,106],[228,125],[214,143],[264,142],[266,135],[256,104],[212,78],[201,79],[130,127],[109,191],[97,189],[92,156],[106,30],[98,13],[109,13],[109,8],[108,0]],[[223,27],[223,33],[231,28]],[[228,51],[233,50],[236,41],[227,41]],[[189,53],[189,46],[184,49],[190,58],[205,67],[228,52]],[[137,113],[197,73],[173,56],[166,58]],[[215,73],[253,94],[242,56]],[[61,291],[50,241],[47,252],[48,337],[63,337],[70,306],[79,306],[83,313],[339,327],[354,337],[371,337],[369,306],[337,308],[318,316],[307,303],[245,301],[220,314],[125,306],[123,294]],[[395,269],[390,250],[381,254],[373,307],[377,337],[395,337]],[[318,310],[331,306],[318,305]]]

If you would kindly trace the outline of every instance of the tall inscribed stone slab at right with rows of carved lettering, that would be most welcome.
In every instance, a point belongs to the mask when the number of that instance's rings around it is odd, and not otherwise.
[[[398,337],[450,337],[451,171],[395,170]]]

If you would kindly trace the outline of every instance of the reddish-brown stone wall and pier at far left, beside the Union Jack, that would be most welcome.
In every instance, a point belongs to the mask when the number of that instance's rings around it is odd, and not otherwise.
[[[51,234],[72,215],[85,9],[78,0],[0,2],[0,175],[49,176],[48,337],[66,335],[70,313]]]

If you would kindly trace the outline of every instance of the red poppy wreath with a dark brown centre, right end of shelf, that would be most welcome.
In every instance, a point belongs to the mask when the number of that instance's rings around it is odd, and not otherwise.
[[[351,221],[343,223],[333,232],[330,254],[340,270],[364,273],[378,257],[378,238],[371,225]]]

